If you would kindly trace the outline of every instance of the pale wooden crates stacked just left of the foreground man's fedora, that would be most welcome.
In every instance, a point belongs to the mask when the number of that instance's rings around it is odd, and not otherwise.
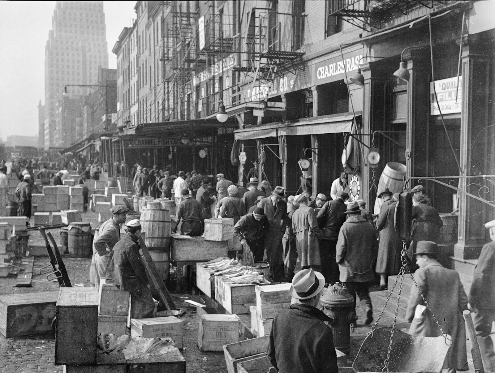
[[[270,334],[275,315],[291,305],[290,288],[289,282],[254,287],[256,306],[249,307],[253,335],[262,337]]]

